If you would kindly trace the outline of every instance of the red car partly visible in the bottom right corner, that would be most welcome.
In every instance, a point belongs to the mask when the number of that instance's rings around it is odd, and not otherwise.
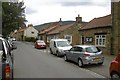
[[[118,54],[110,64],[109,74],[111,78],[120,79],[120,54]]]

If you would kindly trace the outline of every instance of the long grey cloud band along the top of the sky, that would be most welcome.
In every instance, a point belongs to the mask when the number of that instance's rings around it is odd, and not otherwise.
[[[110,3],[110,0],[69,0],[63,1],[58,0],[56,3],[59,3],[62,6],[107,6],[107,3]]]

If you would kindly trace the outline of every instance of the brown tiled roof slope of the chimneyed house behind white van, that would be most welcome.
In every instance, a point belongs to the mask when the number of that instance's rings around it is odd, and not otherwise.
[[[64,26],[58,26],[58,28],[56,28],[55,30],[53,31],[50,31],[48,33],[48,35],[51,35],[51,34],[58,34],[60,33],[61,31],[64,31],[66,29],[68,29],[69,27],[71,27],[73,24],[68,24],[68,25],[64,25]]]

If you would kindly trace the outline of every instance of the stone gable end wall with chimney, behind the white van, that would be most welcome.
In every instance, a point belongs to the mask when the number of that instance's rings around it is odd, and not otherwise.
[[[76,22],[70,28],[63,30],[60,36],[68,39],[72,45],[79,44],[80,38],[78,30],[85,24],[86,22],[82,22],[82,17],[78,15],[78,17],[76,17]]]

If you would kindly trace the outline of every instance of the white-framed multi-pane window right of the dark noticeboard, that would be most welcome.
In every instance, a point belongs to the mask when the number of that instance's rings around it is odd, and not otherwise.
[[[95,45],[105,47],[106,35],[95,35]]]

